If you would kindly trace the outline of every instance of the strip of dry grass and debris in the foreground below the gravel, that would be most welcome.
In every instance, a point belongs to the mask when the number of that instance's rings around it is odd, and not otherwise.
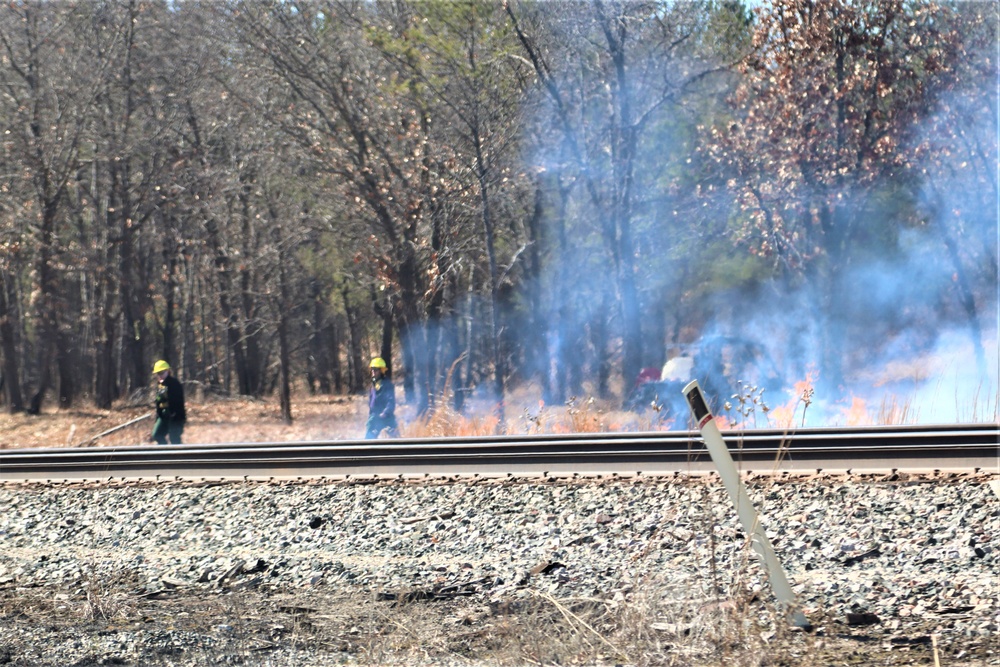
[[[697,585],[677,588],[656,580],[610,596],[559,598],[539,582],[503,600],[398,602],[343,587],[227,590],[192,584],[150,596],[127,566],[101,577],[100,584],[85,576],[42,588],[0,587],[0,618],[8,630],[23,628],[36,638],[41,633],[51,646],[77,641],[106,651],[99,638],[114,636],[122,650],[147,651],[138,663],[121,653],[93,664],[309,665],[318,654],[327,656],[323,664],[473,667],[900,666],[929,664],[930,658],[928,647],[919,654],[893,650],[818,613],[812,618],[825,632],[793,631],[738,586],[724,600],[706,596]],[[149,651],[162,652],[167,636],[175,648],[162,661],[150,661]],[[15,664],[51,664],[41,646],[10,642],[0,649],[10,659],[37,658]]]

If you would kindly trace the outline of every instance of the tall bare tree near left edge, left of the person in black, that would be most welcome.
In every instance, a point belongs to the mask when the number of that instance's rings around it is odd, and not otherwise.
[[[36,296],[33,300],[35,389],[27,410],[38,413],[55,385],[59,404],[73,400],[73,323],[64,289],[60,237],[65,232],[68,184],[77,169],[85,120],[95,103],[93,63],[76,59],[62,44],[76,43],[81,11],[49,3],[17,3],[0,9],[0,48],[5,56],[2,94],[11,110],[5,130],[33,189],[30,230]],[[16,378],[10,378],[16,381]]]

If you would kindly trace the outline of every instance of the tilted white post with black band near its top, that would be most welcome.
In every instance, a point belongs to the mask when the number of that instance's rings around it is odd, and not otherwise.
[[[698,422],[698,430],[701,431],[701,436],[705,439],[705,444],[708,445],[712,461],[719,470],[722,483],[725,484],[726,491],[729,492],[729,498],[736,505],[736,513],[740,517],[740,523],[743,524],[743,530],[751,536],[750,544],[753,550],[764,561],[764,566],[767,568],[767,579],[771,582],[771,589],[774,591],[775,597],[778,598],[778,603],[786,613],[791,612],[792,622],[795,625],[804,629],[812,628],[812,624],[799,608],[795,592],[792,591],[792,586],[788,583],[788,577],[785,576],[785,570],[781,567],[781,562],[774,553],[771,541],[767,539],[767,533],[760,523],[757,510],[754,509],[753,503],[750,501],[746,486],[740,479],[740,473],[736,469],[733,457],[722,439],[722,433],[715,424],[715,419],[708,409],[705,397],[701,394],[698,381],[689,382],[684,387],[683,393],[684,398],[687,399],[688,407],[691,408],[691,414]]]

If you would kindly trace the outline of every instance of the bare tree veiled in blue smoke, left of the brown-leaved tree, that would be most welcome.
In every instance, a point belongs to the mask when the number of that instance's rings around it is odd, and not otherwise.
[[[548,160],[559,177],[557,201],[568,202],[582,190],[586,205],[600,221],[598,232],[615,280],[606,288],[614,291],[597,302],[616,304],[615,332],[622,339],[622,364],[630,381],[647,356],[636,265],[644,244],[637,242],[636,225],[648,224],[655,215],[643,202],[662,187],[658,181],[671,164],[662,153],[653,152],[661,146],[655,137],[664,119],[699,92],[700,83],[724,71],[718,58],[699,52],[704,46],[699,40],[707,30],[707,8],[595,0],[586,13],[539,17],[521,3],[505,7],[550,100],[552,126],[560,132],[559,157]],[[587,236],[582,227],[566,233]],[[565,288],[562,291],[561,299],[568,300]],[[601,308],[593,317],[607,314]],[[604,331],[605,324],[595,320],[593,331]],[[607,335],[595,339],[602,388],[607,387],[605,374],[611,367],[607,340]],[[572,368],[573,357],[579,356],[573,347],[563,347],[560,365]]]

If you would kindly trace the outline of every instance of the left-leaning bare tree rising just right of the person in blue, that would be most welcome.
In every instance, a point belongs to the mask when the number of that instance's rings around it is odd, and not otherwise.
[[[354,216],[368,225],[365,254],[375,280],[393,295],[401,343],[423,350],[427,299],[434,294],[424,234],[427,204],[439,187],[423,159],[431,148],[428,117],[419,100],[394,85],[366,41],[367,11],[362,5],[289,3],[264,12],[247,4],[235,20],[244,42],[265,54],[291,91],[294,102],[282,127],[340,181],[346,200],[357,204]],[[424,409],[432,375],[421,364],[408,370],[418,409]]]

